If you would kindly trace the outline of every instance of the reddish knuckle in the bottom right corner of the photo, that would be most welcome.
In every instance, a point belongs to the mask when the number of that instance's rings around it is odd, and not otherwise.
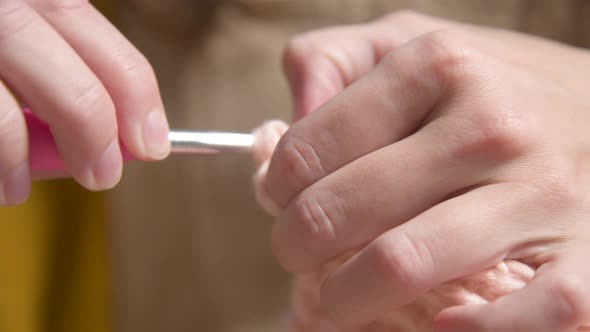
[[[582,323],[590,314],[590,305],[584,296],[588,284],[575,274],[556,279],[549,288],[549,295],[555,299],[554,321],[564,328]]]

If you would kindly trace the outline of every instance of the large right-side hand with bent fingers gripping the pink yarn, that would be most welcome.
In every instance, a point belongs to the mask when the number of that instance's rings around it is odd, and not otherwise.
[[[358,250],[321,288],[337,325],[506,259],[535,278],[437,331],[590,319],[588,52],[397,13],[296,37],[285,59],[300,120],[264,182],[283,208],[273,248],[296,273]]]

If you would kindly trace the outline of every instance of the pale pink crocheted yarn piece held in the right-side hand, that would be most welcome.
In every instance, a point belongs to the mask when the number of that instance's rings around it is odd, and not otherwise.
[[[258,203],[270,215],[277,216],[281,208],[274,198],[264,190],[268,163],[276,144],[287,131],[282,121],[269,121],[254,131],[253,156],[258,171],[254,176],[254,189]],[[346,253],[315,271],[296,276],[291,293],[291,307],[288,319],[281,326],[282,332],[341,332],[326,317],[320,304],[320,289],[323,281],[354,253]],[[534,270],[518,261],[506,261],[457,280],[450,281],[430,290],[412,303],[393,308],[369,325],[363,332],[426,332],[432,328],[436,314],[455,305],[482,304],[524,287],[534,275]]]

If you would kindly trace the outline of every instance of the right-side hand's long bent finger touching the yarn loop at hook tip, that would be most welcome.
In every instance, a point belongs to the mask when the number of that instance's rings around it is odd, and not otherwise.
[[[490,80],[468,64],[483,55],[465,51],[460,38],[433,33],[405,44],[295,123],[277,145],[265,184],[277,204],[286,206],[327,174],[412,134],[440,100],[485,90]]]

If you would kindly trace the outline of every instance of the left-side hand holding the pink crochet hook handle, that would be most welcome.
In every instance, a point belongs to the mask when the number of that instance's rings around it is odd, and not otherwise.
[[[41,176],[7,87],[49,124],[68,174],[90,190],[119,181],[120,143],[142,160],[169,153],[151,66],[87,0],[0,0],[0,78],[0,205],[24,201]]]

